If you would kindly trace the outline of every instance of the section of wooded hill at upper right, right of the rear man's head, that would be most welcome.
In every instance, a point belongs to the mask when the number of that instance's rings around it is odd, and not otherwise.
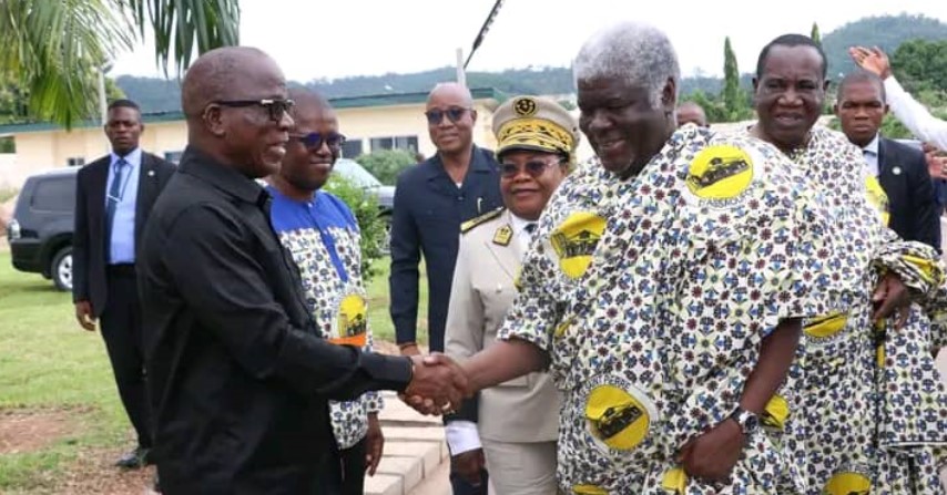
[[[855,70],[848,56],[848,47],[880,47],[888,55],[905,41],[912,39],[930,41],[947,39],[947,24],[924,16],[884,16],[849,22],[822,37],[822,49],[828,59],[828,75],[838,79],[838,73]]]

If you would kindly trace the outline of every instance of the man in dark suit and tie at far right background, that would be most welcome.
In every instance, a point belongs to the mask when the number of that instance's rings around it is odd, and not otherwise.
[[[856,71],[839,83],[835,114],[848,141],[863,149],[868,175],[888,196],[888,226],[906,240],[939,250],[940,218],[924,152],[878,134],[887,112],[877,75]]]

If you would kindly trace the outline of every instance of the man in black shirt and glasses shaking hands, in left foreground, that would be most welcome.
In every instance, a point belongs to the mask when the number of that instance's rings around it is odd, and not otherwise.
[[[140,289],[164,493],[334,494],[327,399],[398,390],[456,404],[464,378],[420,358],[327,343],[254,178],[293,124],[276,63],[250,48],[184,80],[189,146],[144,233]]]

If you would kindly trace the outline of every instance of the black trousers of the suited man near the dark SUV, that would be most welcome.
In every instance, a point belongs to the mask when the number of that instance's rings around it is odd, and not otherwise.
[[[139,436],[139,446],[151,447],[151,410],[145,391],[144,352],[139,290],[134,268],[114,265],[105,269],[109,298],[102,311],[102,338],[112,361],[119,396]]]

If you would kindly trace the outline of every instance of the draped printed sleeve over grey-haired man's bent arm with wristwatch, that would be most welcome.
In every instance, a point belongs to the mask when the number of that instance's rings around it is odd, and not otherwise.
[[[690,330],[672,343],[688,357],[672,372],[688,384],[681,415],[692,419],[669,432],[675,445],[733,413],[763,340],[782,321],[815,317],[832,306],[818,282],[826,281],[824,265],[832,254],[828,217],[806,198],[761,198],[745,220],[694,245],[693,261],[680,276],[672,322]]]

